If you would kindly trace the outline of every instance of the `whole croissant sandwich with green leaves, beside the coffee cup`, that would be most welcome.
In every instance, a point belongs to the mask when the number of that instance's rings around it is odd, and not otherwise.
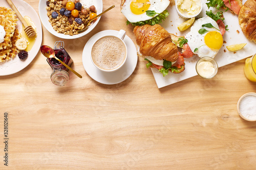
[[[138,56],[144,57],[148,67],[155,67],[166,76],[168,71],[180,73],[185,69],[183,56],[172,42],[170,34],[160,25],[136,26],[133,30],[138,44]]]

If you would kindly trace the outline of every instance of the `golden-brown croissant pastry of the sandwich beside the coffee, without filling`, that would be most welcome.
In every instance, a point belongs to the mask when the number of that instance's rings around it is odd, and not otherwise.
[[[172,42],[170,34],[160,25],[136,26],[133,32],[143,56],[170,62],[178,59],[178,47]]]

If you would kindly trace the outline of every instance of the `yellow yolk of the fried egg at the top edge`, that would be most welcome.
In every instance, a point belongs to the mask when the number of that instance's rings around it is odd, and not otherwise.
[[[149,0],[132,0],[130,8],[131,8],[131,11],[136,15],[143,14],[148,10],[148,8],[150,8],[150,1]]]

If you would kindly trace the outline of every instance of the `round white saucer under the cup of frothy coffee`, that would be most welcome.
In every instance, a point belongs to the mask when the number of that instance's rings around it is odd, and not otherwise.
[[[114,72],[104,72],[99,70],[95,65],[93,64],[91,60],[90,51],[93,45],[93,42],[98,39],[100,36],[103,35],[117,35],[118,31],[115,30],[105,30],[101,31],[94,36],[92,36],[86,45],[83,48],[82,52],[82,63],[84,69],[86,69],[87,74],[94,79],[95,81],[102,83],[102,84],[117,84],[120,83],[127,78],[129,78],[133,71],[136,68],[138,57],[137,57],[137,50],[133,43],[133,40],[125,35],[123,41],[127,45],[127,51],[128,56],[127,60],[125,61],[124,65]]]

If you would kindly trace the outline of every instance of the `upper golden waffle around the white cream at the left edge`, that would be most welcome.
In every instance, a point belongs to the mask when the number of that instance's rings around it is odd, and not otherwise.
[[[11,37],[14,34],[18,19],[10,8],[0,7],[0,25],[4,27],[6,35],[4,42],[0,43],[0,50],[11,47]]]

